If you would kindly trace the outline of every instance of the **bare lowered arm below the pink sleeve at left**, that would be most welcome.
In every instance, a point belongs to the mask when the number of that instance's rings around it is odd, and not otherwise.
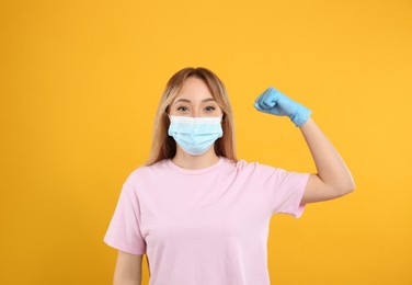
[[[113,285],[140,285],[142,256],[119,250]]]

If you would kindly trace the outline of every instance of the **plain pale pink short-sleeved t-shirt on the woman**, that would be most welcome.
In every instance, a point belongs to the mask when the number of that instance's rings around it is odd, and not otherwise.
[[[123,184],[104,242],[147,254],[150,285],[267,285],[273,214],[299,218],[309,173],[232,162],[188,170],[165,159]]]

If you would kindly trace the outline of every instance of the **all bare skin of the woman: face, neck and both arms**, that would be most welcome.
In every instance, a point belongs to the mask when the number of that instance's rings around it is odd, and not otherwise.
[[[188,78],[185,81],[169,111],[169,115],[174,116],[214,117],[221,114],[207,86],[197,78]],[[332,200],[353,192],[355,184],[346,164],[314,121],[309,118],[299,129],[318,171],[310,174],[300,204]],[[219,160],[213,147],[202,156],[191,156],[179,145],[176,147],[176,155],[172,161],[181,168],[207,168]],[[141,260],[142,255],[118,251],[114,285],[140,284]]]

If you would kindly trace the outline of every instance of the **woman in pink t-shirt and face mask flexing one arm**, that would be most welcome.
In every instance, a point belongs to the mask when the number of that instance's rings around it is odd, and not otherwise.
[[[114,284],[265,285],[272,215],[300,217],[308,203],[354,190],[337,151],[311,111],[274,88],[258,111],[300,128],[318,173],[289,172],[236,158],[233,116],[224,83],[184,68],[167,83],[146,166],[126,179],[104,241],[118,249]]]

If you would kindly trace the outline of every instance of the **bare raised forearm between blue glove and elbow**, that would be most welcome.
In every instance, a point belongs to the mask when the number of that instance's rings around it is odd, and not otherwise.
[[[355,183],[340,153],[312,118],[300,130],[312,155],[318,175],[324,184],[339,192],[351,192]]]

